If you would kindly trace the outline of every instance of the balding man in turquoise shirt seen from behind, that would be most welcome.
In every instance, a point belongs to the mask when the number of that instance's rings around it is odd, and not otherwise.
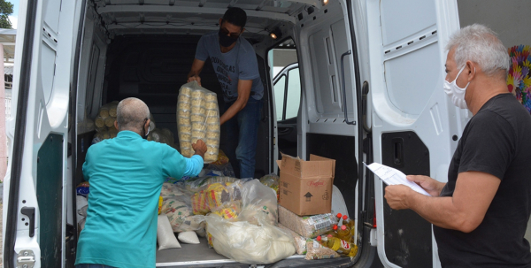
[[[186,158],[166,144],[143,139],[150,132],[150,110],[133,97],[119,102],[114,124],[117,137],[92,145],[83,164],[89,211],[76,267],[155,267],[162,183],[201,172],[206,145],[194,143],[196,155]]]

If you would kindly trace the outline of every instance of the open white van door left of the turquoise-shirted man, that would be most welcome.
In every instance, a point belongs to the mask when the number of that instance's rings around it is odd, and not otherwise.
[[[9,166],[4,180],[4,267],[64,267],[73,66],[85,1],[20,1]],[[75,95],[74,95],[75,96]],[[74,100],[75,103],[75,100]],[[73,117],[73,122],[75,118]],[[73,127],[75,131],[75,127]],[[71,188],[70,188],[71,189]],[[70,256],[70,254],[68,254]]]

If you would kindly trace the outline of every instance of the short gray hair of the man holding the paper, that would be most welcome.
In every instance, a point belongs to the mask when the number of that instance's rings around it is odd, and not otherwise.
[[[481,24],[473,24],[452,34],[446,50],[455,48],[454,59],[460,69],[467,60],[480,65],[483,73],[493,76],[509,71],[511,60],[504,44],[496,33]]]

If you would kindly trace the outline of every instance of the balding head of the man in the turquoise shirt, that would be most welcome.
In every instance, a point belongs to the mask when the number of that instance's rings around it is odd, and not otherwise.
[[[131,130],[140,133],[146,119],[150,119],[150,109],[146,103],[135,97],[123,99],[116,107],[116,121],[119,130]]]

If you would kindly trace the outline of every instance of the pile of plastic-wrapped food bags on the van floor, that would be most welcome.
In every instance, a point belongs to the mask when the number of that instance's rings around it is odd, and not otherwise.
[[[259,180],[168,180],[161,195],[173,232],[206,235],[211,248],[237,262],[270,264],[296,253],[293,236],[277,227],[275,192]]]

